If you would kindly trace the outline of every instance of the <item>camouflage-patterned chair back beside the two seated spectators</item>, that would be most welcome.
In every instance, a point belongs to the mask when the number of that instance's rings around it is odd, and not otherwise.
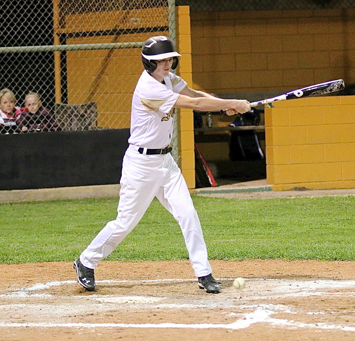
[[[54,115],[61,130],[93,130],[97,128],[96,102],[84,104],[56,103]]]

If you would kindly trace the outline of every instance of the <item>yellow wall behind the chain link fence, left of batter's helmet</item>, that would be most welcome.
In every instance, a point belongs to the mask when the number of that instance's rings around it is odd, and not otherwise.
[[[77,32],[168,26],[168,8],[152,7],[131,11],[79,13],[61,18],[57,34],[70,33],[66,44],[144,42],[168,31],[98,37],[75,37]],[[95,101],[100,128],[129,128],[132,94],[143,71],[141,49],[68,51],[67,93],[69,104]]]

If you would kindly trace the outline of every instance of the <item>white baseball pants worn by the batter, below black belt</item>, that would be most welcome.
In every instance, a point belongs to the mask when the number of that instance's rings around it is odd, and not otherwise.
[[[135,228],[156,196],[179,223],[196,276],[212,272],[200,220],[185,179],[170,153],[143,155],[138,153],[138,147],[130,145],[123,159],[120,183],[118,216],[80,255],[84,266],[94,269],[107,257]]]

